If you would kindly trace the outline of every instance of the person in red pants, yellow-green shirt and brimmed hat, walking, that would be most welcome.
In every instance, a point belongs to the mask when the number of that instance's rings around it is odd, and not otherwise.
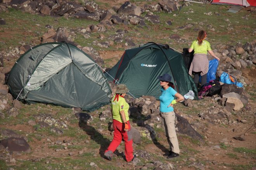
[[[133,160],[132,136],[130,133],[130,122],[128,109],[129,104],[125,101],[128,89],[125,84],[116,86],[116,94],[111,101],[111,112],[113,118],[114,138],[104,153],[107,160],[112,160],[112,155],[122,141],[125,140],[125,158],[127,162]]]

